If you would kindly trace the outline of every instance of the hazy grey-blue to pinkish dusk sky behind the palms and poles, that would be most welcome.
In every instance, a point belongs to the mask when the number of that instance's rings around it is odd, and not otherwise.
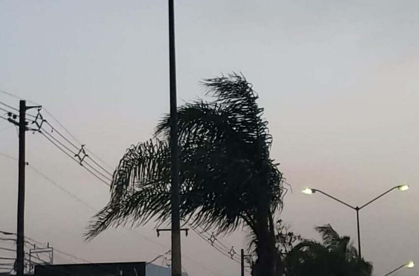
[[[0,0],[0,90],[42,104],[114,167],[169,111],[167,13],[162,0]],[[314,226],[330,223],[356,244],[355,212],[304,187],[361,206],[408,183],[361,210],[362,253],[376,275],[419,262],[418,1],[176,0],[175,28],[178,104],[203,95],[203,78],[236,71],[253,83],[292,186],[279,216],[293,231],[318,239]],[[4,120],[0,152],[18,153]],[[27,160],[92,207],[107,203],[108,187],[41,135],[27,134]],[[0,156],[0,173],[0,230],[14,232],[17,162]],[[27,236],[92,262],[149,261],[170,247],[153,224],[84,242],[93,214],[27,168]],[[239,251],[246,232],[222,240]],[[240,273],[193,233],[182,253],[190,275]]]

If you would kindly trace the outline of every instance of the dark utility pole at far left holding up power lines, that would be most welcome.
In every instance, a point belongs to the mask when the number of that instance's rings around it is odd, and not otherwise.
[[[16,273],[24,276],[25,262],[25,134],[26,134],[26,101],[19,103],[19,182],[17,195],[17,242]]]

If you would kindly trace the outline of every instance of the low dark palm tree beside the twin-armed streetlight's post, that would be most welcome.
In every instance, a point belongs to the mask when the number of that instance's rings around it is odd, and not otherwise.
[[[371,276],[371,263],[359,258],[348,236],[330,224],[316,227],[322,242],[302,241],[287,255],[286,276]]]

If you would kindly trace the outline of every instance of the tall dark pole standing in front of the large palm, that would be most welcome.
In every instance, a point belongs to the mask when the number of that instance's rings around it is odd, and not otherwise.
[[[170,148],[172,178],[172,276],[182,275],[180,250],[180,195],[179,195],[179,147],[177,133],[176,59],[175,59],[175,11],[169,0],[169,71],[170,71]]]

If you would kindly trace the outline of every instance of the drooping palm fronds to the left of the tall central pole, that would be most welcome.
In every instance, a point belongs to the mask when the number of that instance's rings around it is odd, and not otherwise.
[[[169,148],[159,140],[131,146],[113,173],[109,203],[90,222],[86,238],[93,239],[106,228],[148,222],[170,214]]]

